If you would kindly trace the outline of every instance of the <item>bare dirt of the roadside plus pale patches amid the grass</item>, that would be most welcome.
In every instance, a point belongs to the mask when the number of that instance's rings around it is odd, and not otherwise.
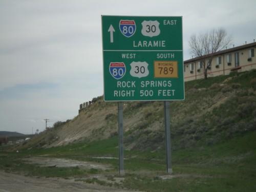
[[[42,158],[33,157],[26,158],[28,163],[37,163],[40,166],[55,166],[56,167],[69,167],[79,166],[84,168],[100,168],[108,169],[106,165],[84,161],[74,161],[68,159],[55,159],[55,158]],[[99,179],[104,179],[102,175],[94,175]],[[120,179],[120,178],[116,178]],[[61,179],[61,178],[38,178],[30,177],[25,175],[19,175],[14,173],[5,173],[0,170],[0,192],[68,192],[68,191],[92,191],[92,192],[109,192],[109,191],[120,191],[120,192],[135,192],[129,189],[120,189],[110,186],[102,186],[98,184],[86,183],[83,181],[75,181],[75,179]]]

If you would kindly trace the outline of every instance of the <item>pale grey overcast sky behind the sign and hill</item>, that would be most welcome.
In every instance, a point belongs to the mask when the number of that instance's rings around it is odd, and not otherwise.
[[[31,134],[103,95],[101,15],[182,16],[188,39],[223,27],[256,39],[255,0],[0,0],[0,131]]]

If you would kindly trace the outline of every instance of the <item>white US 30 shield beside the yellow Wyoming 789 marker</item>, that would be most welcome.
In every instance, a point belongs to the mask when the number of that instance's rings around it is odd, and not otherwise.
[[[130,74],[133,76],[133,77],[138,77],[138,78],[141,78],[141,77],[146,77],[150,72],[148,71],[147,69],[147,66],[148,66],[148,63],[143,61],[143,62],[135,62],[133,61],[131,64],[131,71],[130,71]]]

